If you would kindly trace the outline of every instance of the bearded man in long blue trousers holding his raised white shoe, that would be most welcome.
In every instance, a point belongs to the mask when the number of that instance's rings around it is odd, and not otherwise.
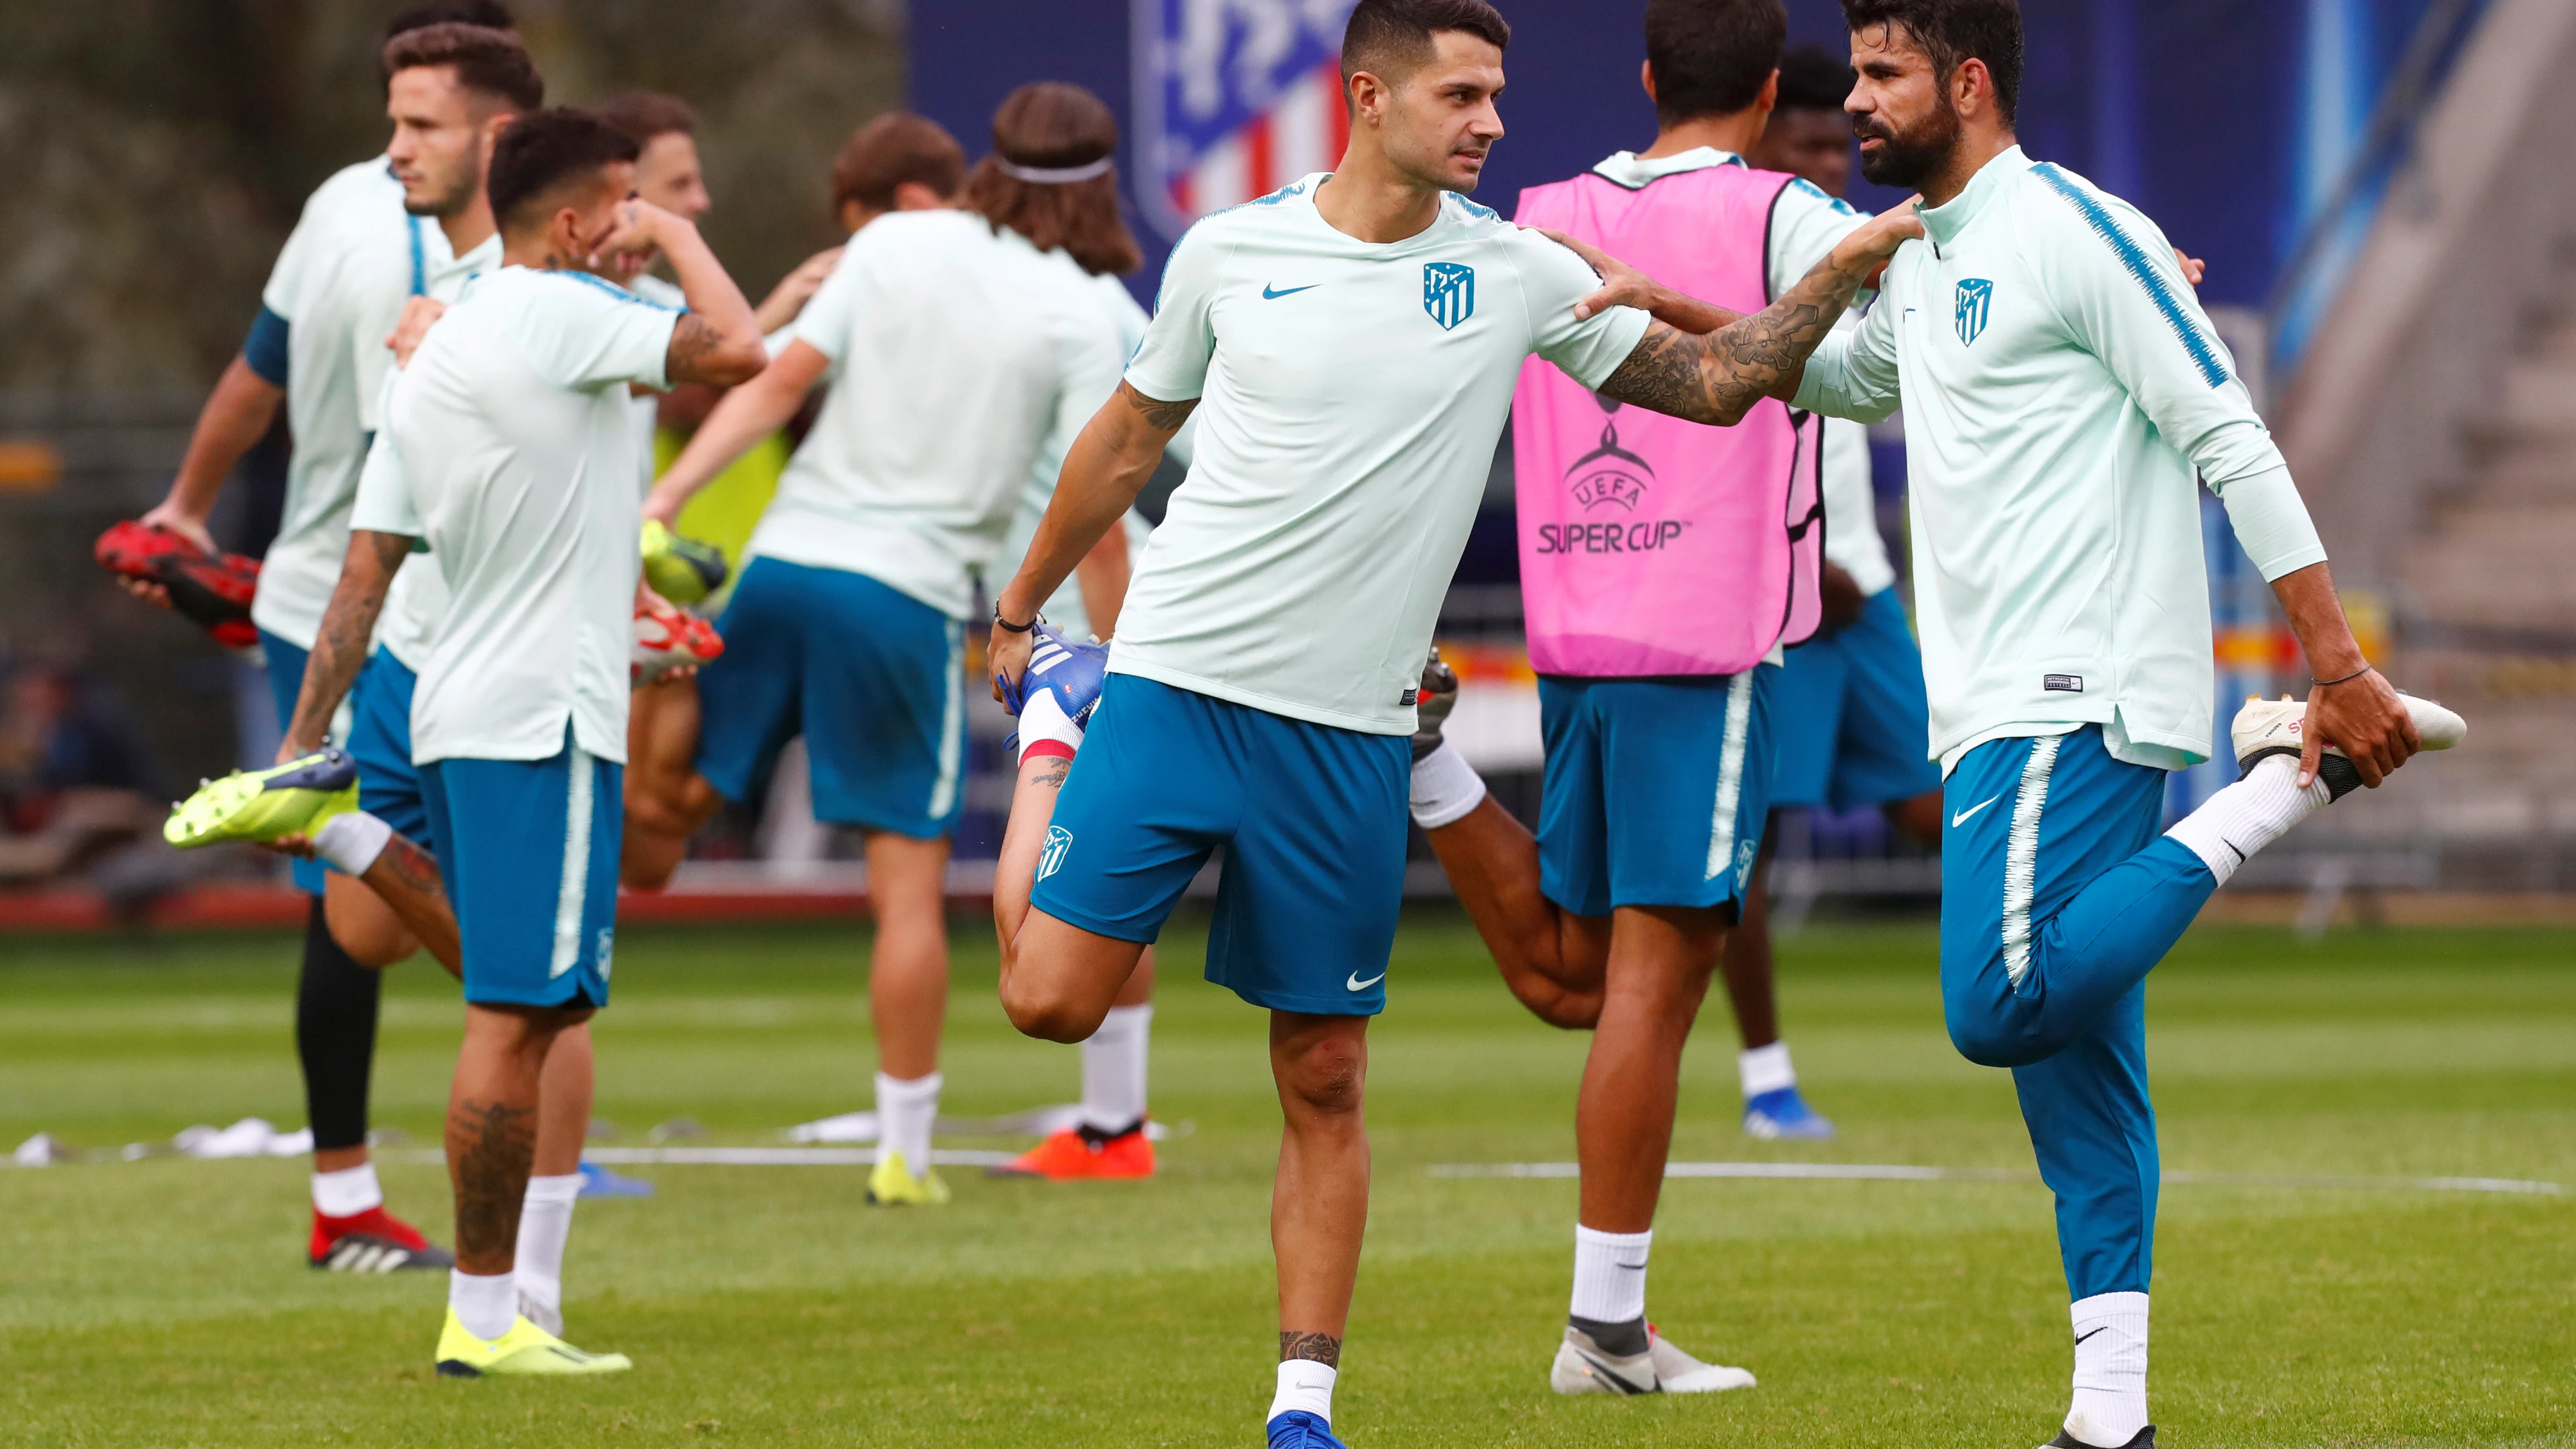
[[[2058,1202],[2074,1449],[2146,1449],[2156,1120],[2146,975],[2264,844],[2460,715],[2352,641],[2326,551],[2184,270],[2138,208],[2014,142],[2012,0],[1844,0],[1860,170],[1922,193],[1927,245],[1775,396],[1906,412],[1929,754],[1945,772],[1950,1040],[2012,1068]],[[2169,831],[2164,772],[2213,752],[2200,489],[2316,672],[2246,703],[2241,780]]]

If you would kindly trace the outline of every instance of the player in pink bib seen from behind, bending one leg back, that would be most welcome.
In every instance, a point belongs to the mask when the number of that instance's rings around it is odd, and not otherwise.
[[[1520,224],[1558,226],[1728,314],[1788,293],[1868,219],[1744,160],[1785,36],[1780,0],[1651,0],[1654,144],[1522,193]],[[1646,1253],[1682,1048],[1762,839],[1780,651],[1816,628],[1816,435],[1775,401],[1716,430],[1528,368],[1512,445],[1548,746],[1535,842],[1440,741],[1455,679],[1443,664],[1425,674],[1435,708],[1414,744],[1414,824],[1515,993],[1543,1019],[1595,1027],[1556,1392],[1754,1382],[1649,1328]],[[1728,963],[1731,988],[1734,975]],[[1767,978],[1736,999],[1747,1130],[1829,1135],[1798,1096]]]

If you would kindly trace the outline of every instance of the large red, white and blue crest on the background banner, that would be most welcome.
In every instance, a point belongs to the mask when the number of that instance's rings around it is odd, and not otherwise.
[[[1190,221],[1332,170],[1350,142],[1342,26],[1358,0],[1131,0],[1136,206]]]

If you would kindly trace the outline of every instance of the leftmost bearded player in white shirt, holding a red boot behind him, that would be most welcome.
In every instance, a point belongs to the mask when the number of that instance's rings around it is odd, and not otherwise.
[[[206,517],[224,476],[286,407],[294,432],[286,507],[252,602],[281,728],[348,551],[348,507],[392,365],[386,335],[410,296],[466,265],[479,237],[453,232],[453,221],[479,206],[492,136],[518,106],[544,98],[526,51],[515,62],[497,51],[515,49],[502,33],[510,23],[505,5],[482,0],[420,5],[386,26],[389,46],[430,28],[492,36],[497,44],[479,46],[489,51],[477,67],[484,85],[394,98],[394,72],[384,69],[392,149],[402,157],[348,165],[304,203],[260,291],[250,340],[198,414],[170,497],[144,515],[147,525],[209,546]],[[355,880],[332,878],[319,862],[296,862],[294,878],[314,896],[296,981],[296,1058],[314,1135],[307,1261],[366,1271],[451,1266],[443,1248],[384,1207],[366,1148],[379,968],[417,942]]]

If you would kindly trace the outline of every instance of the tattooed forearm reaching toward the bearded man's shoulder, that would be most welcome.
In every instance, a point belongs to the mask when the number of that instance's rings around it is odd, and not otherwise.
[[[1808,353],[1834,329],[1875,265],[1878,257],[1826,257],[1780,301],[1705,337],[1649,324],[1600,391],[1690,422],[1734,427],[1757,401],[1795,383]]]

